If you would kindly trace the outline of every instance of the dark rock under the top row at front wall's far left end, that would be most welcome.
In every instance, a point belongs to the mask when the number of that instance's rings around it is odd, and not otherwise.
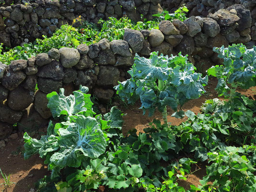
[[[2,77],[2,85],[10,91],[15,89],[26,78],[26,74],[22,71],[13,72],[10,69],[6,69]]]

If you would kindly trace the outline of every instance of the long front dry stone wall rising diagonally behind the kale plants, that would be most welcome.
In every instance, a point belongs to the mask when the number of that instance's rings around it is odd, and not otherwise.
[[[248,11],[242,8],[242,13]],[[126,71],[133,65],[135,53],[148,57],[153,51],[169,56],[181,51],[201,72],[220,64],[213,47],[251,39],[247,28],[238,30],[244,19],[240,9],[229,7],[206,18],[191,16],[184,22],[162,21],[159,30],[125,29],[121,40],[53,48],[28,60],[0,63],[0,139],[12,132],[13,123],[18,122],[20,131],[46,126],[51,117],[46,96],[61,87],[69,95],[82,84],[100,102],[108,102],[114,95],[112,87],[129,78]]]

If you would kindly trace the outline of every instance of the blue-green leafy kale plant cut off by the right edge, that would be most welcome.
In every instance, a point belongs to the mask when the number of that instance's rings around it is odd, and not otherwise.
[[[247,49],[243,44],[233,44],[228,48],[213,48],[223,65],[207,70],[208,75],[218,78],[219,95],[232,98],[238,87],[248,89],[256,86],[256,47]]]

